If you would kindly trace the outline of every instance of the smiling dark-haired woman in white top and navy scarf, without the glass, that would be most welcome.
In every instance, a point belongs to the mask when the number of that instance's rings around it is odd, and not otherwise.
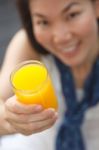
[[[17,5],[23,29],[8,47],[0,90],[6,101],[7,121],[16,132],[43,132],[2,137],[2,147],[98,150],[99,0],[17,0]],[[11,71],[19,62],[30,59],[43,61],[49,70],[58,97],[58,120],[52,108],[26,107],[17,104],[15,97],[8,100]]]

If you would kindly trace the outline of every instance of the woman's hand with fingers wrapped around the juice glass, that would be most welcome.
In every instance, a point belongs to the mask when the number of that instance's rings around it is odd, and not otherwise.
[[[54,109],[43,109],[40,105],[24,105],[17,101],[16,96],[5,103],[6,120],[24,135],[41,132],[50,128],[57,120]]]

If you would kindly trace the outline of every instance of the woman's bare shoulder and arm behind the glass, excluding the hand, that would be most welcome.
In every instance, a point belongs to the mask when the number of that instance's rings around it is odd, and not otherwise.
[[[26,32],[20,30],[13,37],[7,48],[0,71],[0,97],[3,100],[12,95],[9,80],[11,71],[18,63],[30,59],[39,59],[39,55],[33,50]]]

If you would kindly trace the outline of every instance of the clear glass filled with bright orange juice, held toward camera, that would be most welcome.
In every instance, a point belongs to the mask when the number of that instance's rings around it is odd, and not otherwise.
[[[40,61],[20,63],[11,73],[10,81],[19,102],[57,110],[58,102],[51,77]]]

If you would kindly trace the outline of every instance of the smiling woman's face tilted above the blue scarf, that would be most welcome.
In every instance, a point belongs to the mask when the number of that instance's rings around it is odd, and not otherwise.
[[[92,59],[98,43],[93,5],[90,0],[31,0],[36,40],[71,67]]]

